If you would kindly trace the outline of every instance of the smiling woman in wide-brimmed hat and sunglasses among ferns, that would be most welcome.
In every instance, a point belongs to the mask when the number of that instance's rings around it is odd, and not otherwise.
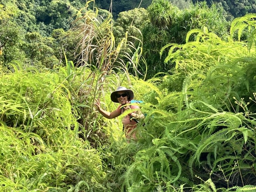
[[[108,119],[116,118],[126,110],[138,109],[138,111],[131,112],[122,119],[125,137],[127,139],[136,139],[134,132],[134,128],[136,128],[138,122],[136,121],[136,119],[140,119],[143,117],[143,114],[139,111],[139,106],[130,105],[130,102],[133,99],[133,97],[134,94],[131,89],[126,89],[125,87],[118,87],[117,90],[112,92],[110,95],[111,101],[115,103],[120,103],[120,105],[115,111],[109,112],[101,109],[100,99],[98,99],[95,103],[97,111],[100,112],[103,117]]]

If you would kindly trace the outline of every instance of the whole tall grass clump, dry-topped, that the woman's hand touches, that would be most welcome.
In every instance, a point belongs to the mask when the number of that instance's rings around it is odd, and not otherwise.
[[[89,3],[93,3],[93,9],[88,8]],[[101,10],[101,12],[104,11]],[[67,72],[63,72],[66,73],[66,83],[73,95],[71,102],[79,113],[77,119],[82,130],[80,136],[92,142],[105,140],[105,134],[101,135],[100,130],[106,125],[104,121],[108,121],[102,120],[95,113],[94,100],[101,98],[102,105],[108,109],[110,104],[108,93],[121,84],[129,87],[130,71],[138,74],[137,65],[142,50],[141,42],[136,47],[129,40],[139,39],[128,37],[127,33],[116,45],[112,32],[111,14],[106,12],[106,16],[102,17],[98,13],[99,10],[94,7],[94,1],[88,1],[85,8],[77,14],[72,31],[78,34],[79,43],[76,49],[78,62],[72,65],[72,62],[66,61]],[[122,75],[120,78],[119,73],[125,76]],[[107,81],[106,79],[110,76],[111,78]]]

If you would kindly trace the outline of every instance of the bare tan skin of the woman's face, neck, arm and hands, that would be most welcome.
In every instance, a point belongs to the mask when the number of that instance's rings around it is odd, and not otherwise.
[[[118,91],[117,94],[123,94],[123,93],[126,93],[125,91]],[[130,101],[128,100],[128,96],[125,96],[125,97],[119,97],[117,98],[118,102],[122,105],[125,105],[127,104],[127,106],[124,106],[124,110],[128,110],[128,109],[131,109],[130,108],[130,105],[128,105],[130,103]],[[101,109],[101,103],[100,103],[100,99],[97,99],[96,100],[96,103],[95,103],[95,107],[97,109],[98,112],[101,113],[101,115],[105,118],[108,118],[108,119],[113,119],[113,118],[116,118],[118,117],[119,115],[121,115],[119,112],[117,111],[112,111],[112,112],[109,112],[109,111],[105,111],[103,109]],[[131,113],[131,116],[132,117],[137,117],[138,115],[136,113]]]

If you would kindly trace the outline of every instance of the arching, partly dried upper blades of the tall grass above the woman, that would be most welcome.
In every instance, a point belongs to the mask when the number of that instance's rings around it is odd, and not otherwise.
[[[79,50],[76,66],[97,68],[100,83],[104,81],[105,75],[112,72],[123,71],[128,78],[130,71],[136,76],[145,75],[146,70],[142,72],[137,70],[141,65],[139,63],[142,53],[141,40],[134,36],[128,36],[128,32],[126,32],[123,39],[115,45],[111,15],[102,18],[98,15],[97,8],[95,8],[96,12],[88,10],[90,2],[79,11],[73,28],[79,39],[76,47]],[[134,44],[135,41],[138,43]]]

